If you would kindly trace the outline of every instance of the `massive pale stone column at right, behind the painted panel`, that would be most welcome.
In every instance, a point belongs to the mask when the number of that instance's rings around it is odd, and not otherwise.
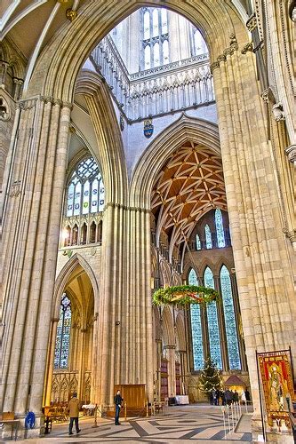
[[[250,47],[238,51],[236,38],[231,36],[229,48],[212,64],[212,72],[236,279],[257,416],[260,401],[255,351],[295,345],[292,273],[283,242],[277,182]]]

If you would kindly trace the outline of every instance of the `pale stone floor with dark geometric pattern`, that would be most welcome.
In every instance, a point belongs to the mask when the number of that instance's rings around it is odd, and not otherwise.
[[[93,428],[93,419],[80,420],[81,432],[68,436],[68,424],[53,424],[52,432],[38,440],[18,441],[24,443],[50,444],[51,441],[76,442],[146,442],[149,444],[181,444],[186,442],[223,442],[236,444],[251,442],[251,415],[244,415],[244,431],[229,432],[223,426],[220,407],[182,406],[166,408],[163,414],[148,418],[134,418],[116,426],[113,420],[100,418],[98,427]],[[239,427],[236,428],[236,430]],[[247,432],[245,432],[247,431]]]

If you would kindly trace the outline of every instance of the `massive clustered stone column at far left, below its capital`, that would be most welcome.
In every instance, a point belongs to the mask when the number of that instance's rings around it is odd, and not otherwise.
[[[21,106],[5,214],[2,385],[3,410],[19,416],[42,406],[71,108],[52,98]]]

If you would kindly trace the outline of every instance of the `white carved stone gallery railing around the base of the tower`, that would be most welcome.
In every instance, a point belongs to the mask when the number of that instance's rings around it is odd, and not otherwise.
[[[90,59],[128,123],[214,101],[208,54],[129,74],[116,45],[107,36]]]

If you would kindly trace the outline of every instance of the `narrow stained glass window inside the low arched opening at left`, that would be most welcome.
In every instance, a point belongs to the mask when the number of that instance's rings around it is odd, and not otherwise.
[[[71,301],[63,294],[60,300],[60,319],[54,352],[54,369],[68,369],[71,330]]]

